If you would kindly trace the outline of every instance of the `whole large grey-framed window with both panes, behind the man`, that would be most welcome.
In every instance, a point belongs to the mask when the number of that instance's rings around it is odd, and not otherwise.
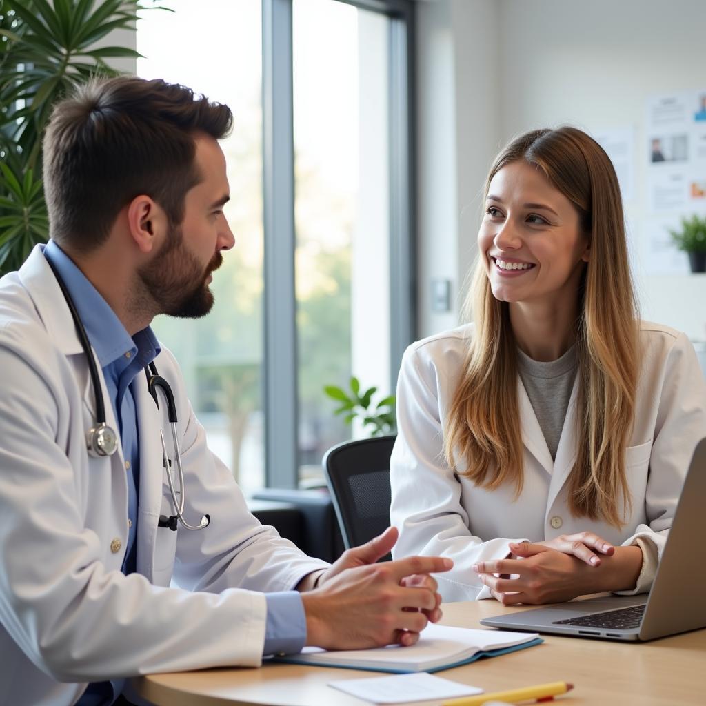
[[[353,373],[387,395],[414,336],[412,4],[162,4],[138,21],[138,74],[232,107],[236,246],[212,313],[155,330],[246,493],[321,482],[351,436],[323,385]]]

